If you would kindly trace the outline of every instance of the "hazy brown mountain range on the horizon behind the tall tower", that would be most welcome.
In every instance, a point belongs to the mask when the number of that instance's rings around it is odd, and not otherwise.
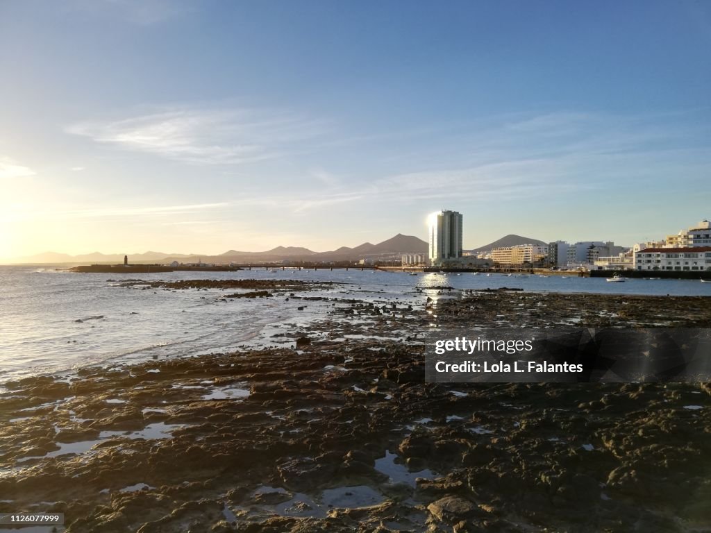
[[[491,249],[502,246],[515,246],[515,244],[546,244],[538,239],[521,237],[520,235],[506,235],[494,242],[490,242],[483,247],[470,250],[472,253],[489,252]],[[357,259],[375,259],[387,256],[397,256],[398,254],[427,254],[428,244],[413,235],[402,235],[398,233],[378,244],[364,242],[356,247],[350,248],[342,246],[331,252],[314,252],[304,247],[278,246],[265,252],[240,252],[230,249],[219,255],[201,254],[166,254],[164,252],[145,252],[142,254],[129,254],[129,262],[132,264],[146,263],[170,263],[173,261],[183,263],[193,263],[202,261],[203,263],[229,263],[229,262],[276,262],[284,259],[292,261],[351,261]],[[114,264],[122,263],[124,254],[102,254],[94,252],[92,254],[69,255],[57,252],[46,252],[30,257],[22,257],[18,262],[26,264],[42,263],[77,263],[77,264]]]

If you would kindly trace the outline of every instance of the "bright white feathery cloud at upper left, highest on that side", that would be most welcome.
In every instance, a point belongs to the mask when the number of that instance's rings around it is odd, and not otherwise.
[[[71,134],[123,149],[200,164],[276,158],[326,131],[324,122],[260,109],[172,109],[114,122],[81,122]]]

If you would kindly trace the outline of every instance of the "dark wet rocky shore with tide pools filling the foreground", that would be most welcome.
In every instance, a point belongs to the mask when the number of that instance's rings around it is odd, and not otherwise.
[[[6,384],[0,512],[63,512],[67,532],[710,530],[709,384],[427,384],[422,343],[708,328],[710,298],[438,292],[331,298],[284,348]]]

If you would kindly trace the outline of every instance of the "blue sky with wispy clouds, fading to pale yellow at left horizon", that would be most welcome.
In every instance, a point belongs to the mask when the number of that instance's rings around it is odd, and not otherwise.
[[[0,0],[0,262],[711,217],[711,2]]]

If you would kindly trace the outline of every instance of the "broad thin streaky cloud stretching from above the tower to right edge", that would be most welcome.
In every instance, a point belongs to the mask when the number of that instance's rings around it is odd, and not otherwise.
[[[427,162],[427,170],[376,178],[366,192],[390,202],[506,200],[535,193],[560,197],[605,188],[621,178],[643,182],[707,167],[709,146],[699,139],[708,138],[708,126],[678,118],[583,112],[508,117],[452,140],[456,146],[444,156],[428,158],[423,151],[419,161]]]

